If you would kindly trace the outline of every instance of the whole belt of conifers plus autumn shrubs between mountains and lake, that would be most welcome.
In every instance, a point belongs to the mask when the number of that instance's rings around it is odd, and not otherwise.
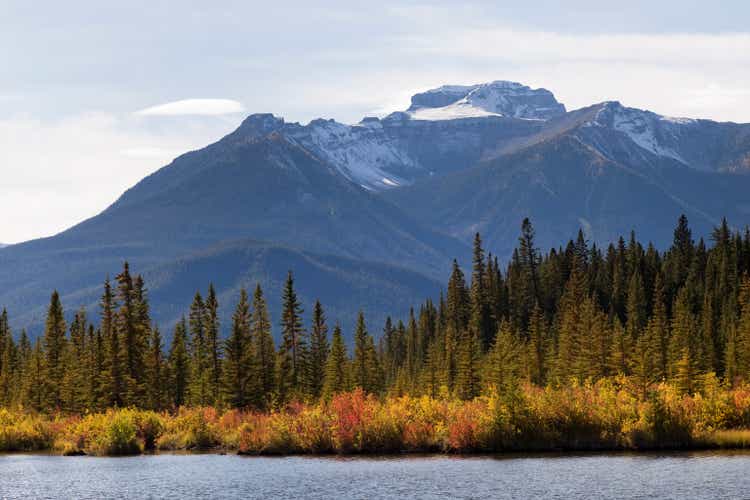
[[[207,284],[165,342],[126,263],[69,324],[53,292],[34,341],[3,312],[0,449],[745,446],[749,273],[750,231],[726,221],[695,241],[683,216],[665,251],[579,231],[543,253],[526,219],[507,264],[477,234],[438,300],[384,325],[360,313],[347,345],[291,271],[280,318],[257,285],[220,325]]]

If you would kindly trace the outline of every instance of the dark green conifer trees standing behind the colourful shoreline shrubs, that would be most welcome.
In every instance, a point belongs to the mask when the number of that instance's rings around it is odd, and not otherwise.
[[[640,398],[665,381],[682,394],[704,390],[707,380],[736,386],[750,379],[750,232],[723,221],[711,240],[695,242],[682,216],[665,252],[634,234],[599,248],[579,232],[541,253],[525,219],[501,269],[477,234],[468,276],[454,261],[446,294],[403,321],[368,330],[360,313],[351,353],[319,302],[304,324],[291,272],[281,317],[270,318],[260,286],[250,295],[243,289],[227,338],[207,283],[165,351],[146,285],[125,264],[105,283],[95,322],[80,310],[66,324],[55,292],[44,335],[32,343],[25,332],[11,334],[3,313],[0,405],[269,410],[354,388],[471,400],[521,384],[614,376],[626,377]]]

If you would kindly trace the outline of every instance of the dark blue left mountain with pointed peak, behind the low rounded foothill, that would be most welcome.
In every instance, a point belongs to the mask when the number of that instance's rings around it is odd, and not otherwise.
[[[216,144],[177,158],[96,217],[54,237],[4,248],[0,304],[8,307],[15,326],[38,331],[53,289],[60,291],[71,312],[90,305],[101,293],[104,277],[114,276],[124,260],[148,275],[221,242],[242,238],[335,255],[336,259],[326,261],[330,273],[351,274],[347,269],[356,259],[371,269],[377,269],[372,267],[377,262],[408,267],[422,273],[423,282],[433,279],[432,284],[445,274],[453,256],[466,253],[463,244],[425,229],[282,135],[254,137],[240,128]],[[218,260],[231,260],[234,255],[215,257],[217,272],[232,268],[234,263]],[[298,271],[291,261],[288,268]],[[395,279],[398,273],[384,274]],[[156,294],[154,311],[189,301],[209,279],[189,289],[173,289],[173,296]],[[376,282],[369,281],[368,286]],[[391,281],[383,289],[399,286]],[[416,300],[424,292],[422,287],[411,297]],[[312,290],[309,293],[312,296]],[[378,304],[358,300],[362,295],[344,286],[339,293],[348,307],[340,306],[346,309],[343,317],[351,317],[368,303]],[[407,302],[394,302],[398,298],[403,294],[394,295],[388,309],[374,306],[367,312],[382,317],[388,310],[403,309]],[[159,312],[157,316],[170,319]]]

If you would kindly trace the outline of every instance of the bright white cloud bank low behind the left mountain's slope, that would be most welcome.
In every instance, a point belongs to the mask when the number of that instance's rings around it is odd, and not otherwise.
[[[216,118],[163,129],[127,115],[0,119],[0,242],[56,234],[95,215],[175,156],[229,132]]]

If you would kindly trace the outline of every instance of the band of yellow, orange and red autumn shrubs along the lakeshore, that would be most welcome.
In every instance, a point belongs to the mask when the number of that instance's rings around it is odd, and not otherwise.
[[[487,454],[750,448],[750,386],[703,394],[660,384],[639,400],[624,377],[559,389],[519,386],[471,401],[379,398],[362,389],[317,404],[250,412],[182,407],[87,415],[0,409],[0,452],[117,456]]]

